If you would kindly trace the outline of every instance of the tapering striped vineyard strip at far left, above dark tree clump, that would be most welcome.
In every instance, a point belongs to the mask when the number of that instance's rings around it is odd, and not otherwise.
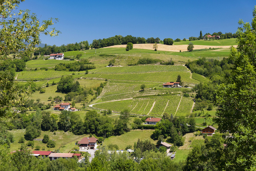
[[[66,76],[72,74],[73,72],[69,71],[22,71],[16,72],[18,80],[42,80],[50,78],[58,78],[61,76]]]

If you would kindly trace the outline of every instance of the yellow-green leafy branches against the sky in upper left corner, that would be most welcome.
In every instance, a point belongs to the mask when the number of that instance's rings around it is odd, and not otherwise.
[[[13,52],[17,57],[30,56],[36,45],[40,43],[39,34],[49,34],[57,36],[59,31],[55,29],[48,30],[58,21],[57,18],[43,20],[41,24],[36,14],[30,14],[29,10],[16,10],[20,1],[7,0],[2,1],[1,5],[1,25],[0,29],[0,55],[6,55]],[[22,22],[21,22],[22,21]]]

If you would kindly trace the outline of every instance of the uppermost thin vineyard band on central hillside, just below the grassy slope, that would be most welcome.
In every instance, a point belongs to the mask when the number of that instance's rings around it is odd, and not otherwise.
[[[188,71],[183,65],[135,65],[126,67],[106,67],[94,73],[146,73],[155,71]]]

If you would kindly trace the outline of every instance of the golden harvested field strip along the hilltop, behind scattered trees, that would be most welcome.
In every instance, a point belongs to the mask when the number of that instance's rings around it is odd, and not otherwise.
[[[133,44],[134,49],[153,49],[153,43],[145,43],[145,44]],[[205,46],[205,45],[194,45],[194,49],[208,49],[208,48],[229,48],[230,46]],[[234,45],[236,48],[237,45]],[[114,45],[105,48],[126,48],[126,44]],[[158,50],[160,51],[170,51],[170,52],[182,52],[187,51],[187,45],[166,45],[166,44],[158,44]]]

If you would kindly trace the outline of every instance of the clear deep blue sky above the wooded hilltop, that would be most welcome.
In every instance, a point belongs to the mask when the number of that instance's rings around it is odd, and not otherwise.
[[[115,35],[187,38],[213,32],[232,32],[238,21],[251,22],[255,0],[25,0],[40,20],[59,18],[58,37],[41,36],[42,43],[61,46],[81,41],[92,43]]]

